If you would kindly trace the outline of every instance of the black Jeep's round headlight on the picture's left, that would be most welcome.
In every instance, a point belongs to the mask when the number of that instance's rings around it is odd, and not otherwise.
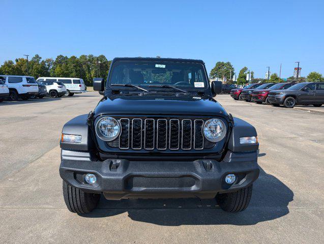
[[[116,139],[120,132],[121,127],[118,121],[112,117],[103,117],[97,122],[97,136],[104,141],[112,141]]]

